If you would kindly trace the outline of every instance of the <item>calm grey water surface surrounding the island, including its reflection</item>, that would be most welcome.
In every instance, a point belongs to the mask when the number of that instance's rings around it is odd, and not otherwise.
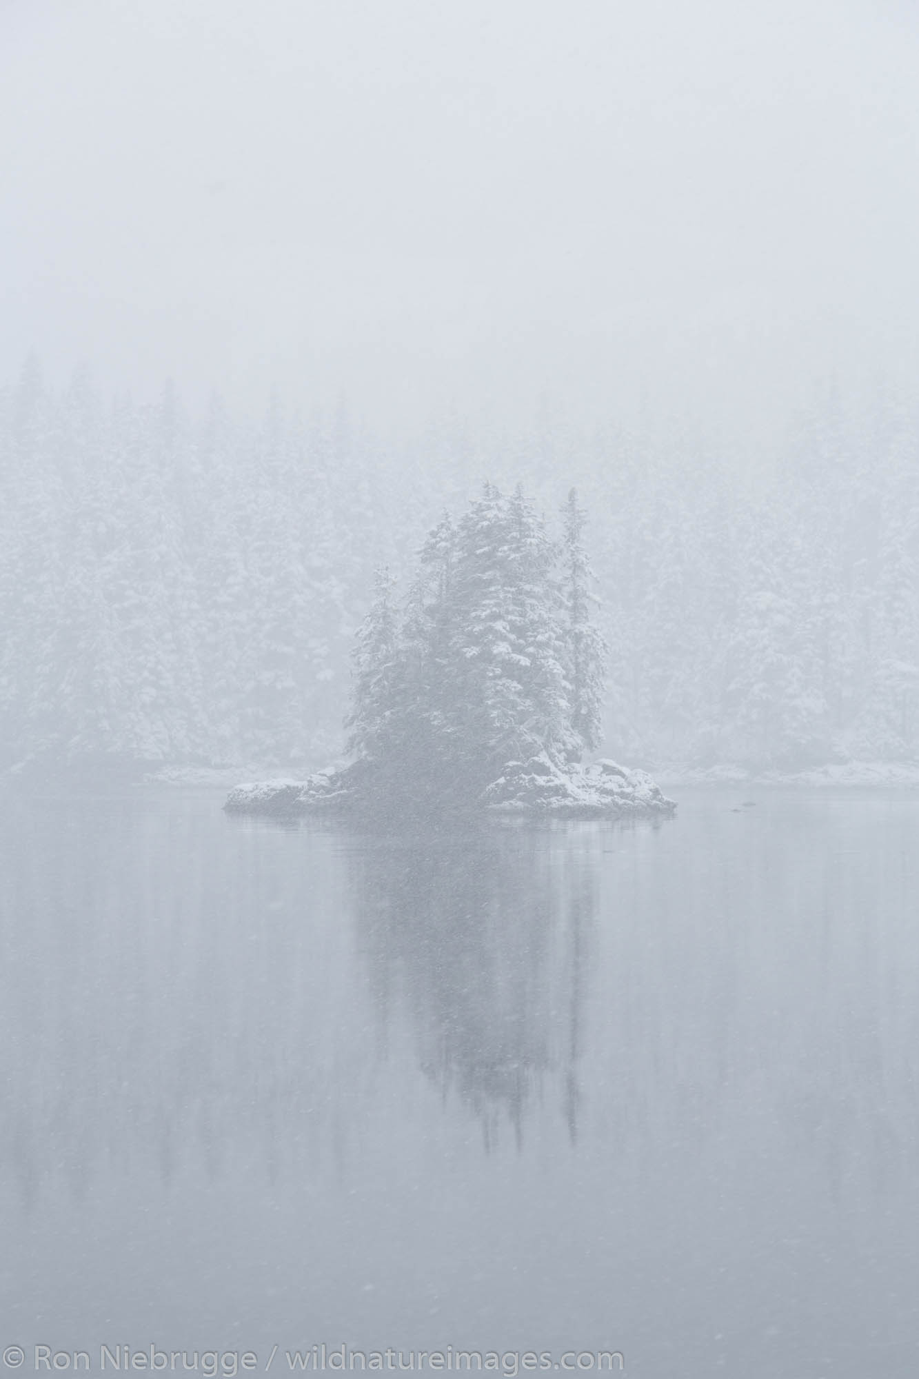
[[[446,836],[207,792],[0,808],[22,1373],[916,1372],[915,794]]]

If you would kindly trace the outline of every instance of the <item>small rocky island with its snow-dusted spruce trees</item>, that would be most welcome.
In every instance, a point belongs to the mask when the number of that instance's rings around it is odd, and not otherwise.
[[[345,720],[355,760],[237,786],[233,814],[418,821],[457,811],[669,815],[651,778],[582,764],[600,742],[607,647],[574,490],[553,541],[517,488],[486,484],[428,535],[402,604],[388,571],[357,633]]]

